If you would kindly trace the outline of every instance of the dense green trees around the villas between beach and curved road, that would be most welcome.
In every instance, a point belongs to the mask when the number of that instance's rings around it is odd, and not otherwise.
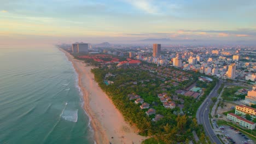
[[[153,66],[152,66],[153,67]],[[164,68],[162,68],[164,69]],[[150,141],[162,141],[165,143],[184,142],[193,139],[191,131],[196,130],[202,140],[205,139],[201,125],[196,122],[195,114],[206,96],[211,92],[215,86],[216,80],[212,83],[200,82],[203,85],[204,94],[200,99],[196,100],[193,97],[185,97],[184,95],[177,95],[178,98],[184,100],[184,108],[179,107],[174,109],[165,109],[161,101],[157,97],[158,93],[162,93],[160,85],[163,81],[158,78],[158,73],[142,70],[139,67],[130,68],[115,68],[115,67],[98,67],[91,70],[95,74],[95,80],[99,86],[112,99],[113,103],[123,113],[127,122],[136,125],[141,135],[154,135]],[[114,76],[105,77],[106,74],[113,74]],[[193,74],[193,78],[179,83],[178,86],[167,88],[166,93],[170,96],[174,95],[177,89],[184,89],[190,86],[197,80],[198,74]],[[103,81],[114,81],[111,85],[106,85]],[[144,81],[150,80],[150,81]],[[167,80],[172,80],[166,77]],[[133,82],[137,82],[135,85]],[[129,100],[127,94],[138,94],[144,101],[150,104],[150,107],[156,110],[156,113],[164,116],[160,121],[153,122],[154,116],[147,116],[147,110],[141,110],[134,101]],[[179,104],[179,101],[176,101]],[[183,115],[184,113],[184,115]],[[190,117],[189,117],[190,116]],[[176,135],[176,136],[174,136]],[[148,143],[145,141],[144,143]]]

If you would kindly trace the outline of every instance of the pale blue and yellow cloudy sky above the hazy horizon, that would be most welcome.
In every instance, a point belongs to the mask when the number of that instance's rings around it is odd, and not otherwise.
[[[0,45],[149,38],[256,43],[256,1],[0,0]]]

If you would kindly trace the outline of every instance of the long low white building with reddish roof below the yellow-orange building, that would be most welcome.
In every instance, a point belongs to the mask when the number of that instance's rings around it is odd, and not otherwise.
[[[255,129],[255,125],[256,125],[255,123],[248,121],[247,119],[242,118],[240,116],[237,116],[234,113],[228,113],[227,118],[247,129],[251,129],[251,130]]]

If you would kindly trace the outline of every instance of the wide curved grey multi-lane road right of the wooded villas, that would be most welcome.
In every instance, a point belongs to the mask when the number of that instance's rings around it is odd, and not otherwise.
[[[214,131],[212,129],[210,119],[209,119],[209,113],[210,106],[213,103],[211,98],[218,96],[218,89],[222,85],[223,81],[220,80],[217,85],[212,89],[211,93],[208,95],[208,97],[203,101],[201,106],[196,112],[196,119],[199,124],[203,125],[203,128],[205,129],[206,135],[210,138],[211,143],[217,143],[222,144],[222,142],[218,139],[218,137],[214,134]]]

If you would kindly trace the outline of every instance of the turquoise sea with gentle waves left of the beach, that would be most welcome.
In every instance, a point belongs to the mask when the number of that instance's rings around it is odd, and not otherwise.
[[[0,47],[0,143],[94,143],[82,105],[59,49]]]

